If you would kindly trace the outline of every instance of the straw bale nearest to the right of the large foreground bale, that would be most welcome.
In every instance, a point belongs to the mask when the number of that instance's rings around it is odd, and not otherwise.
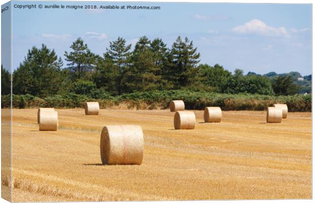
[[[177,111],[174,115],[175,129],[195,129],[196,117],[191,111]]]

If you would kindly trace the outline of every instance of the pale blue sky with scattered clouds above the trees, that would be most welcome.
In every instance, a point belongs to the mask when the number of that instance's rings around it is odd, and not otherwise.
[[[118,37],[134,45],[145,35],[162,38],[168,47],[178,36],[188,37],[198,47],[201,63],[219,63],[231,72],[311,74],[311,5],[38,1],[12,5],[31,3],[148,5],[161,10],[13,8],[13,69],[28,49],[42,43],[64,59],[78,37],[92,52],[103,55],[109,42]]]

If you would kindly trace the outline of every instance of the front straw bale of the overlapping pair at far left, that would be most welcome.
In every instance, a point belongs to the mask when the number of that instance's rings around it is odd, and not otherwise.
[[[58,112],[41,111],[40,130],[56,131],[58,127]]]

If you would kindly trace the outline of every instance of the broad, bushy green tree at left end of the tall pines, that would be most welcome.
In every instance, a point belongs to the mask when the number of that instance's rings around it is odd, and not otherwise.
[[[58,59],[54,50],[46,45],[28,50],[24,61],[13,73],[13,93],[32,94],[40,97],[56,94],[62,81]]]

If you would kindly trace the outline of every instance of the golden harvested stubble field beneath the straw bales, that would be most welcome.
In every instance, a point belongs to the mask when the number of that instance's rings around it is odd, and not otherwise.
[[[311,198],[311,113],[266,123],[266,112],[223,112],[222,123],[174,130],[169,110],[13,110],[13,201]],[[140,125],[142,165],[102,165],[104,125]],[[3,180],[3,182],[5,182]],[[7,187],[7,186],[3,186]]]

